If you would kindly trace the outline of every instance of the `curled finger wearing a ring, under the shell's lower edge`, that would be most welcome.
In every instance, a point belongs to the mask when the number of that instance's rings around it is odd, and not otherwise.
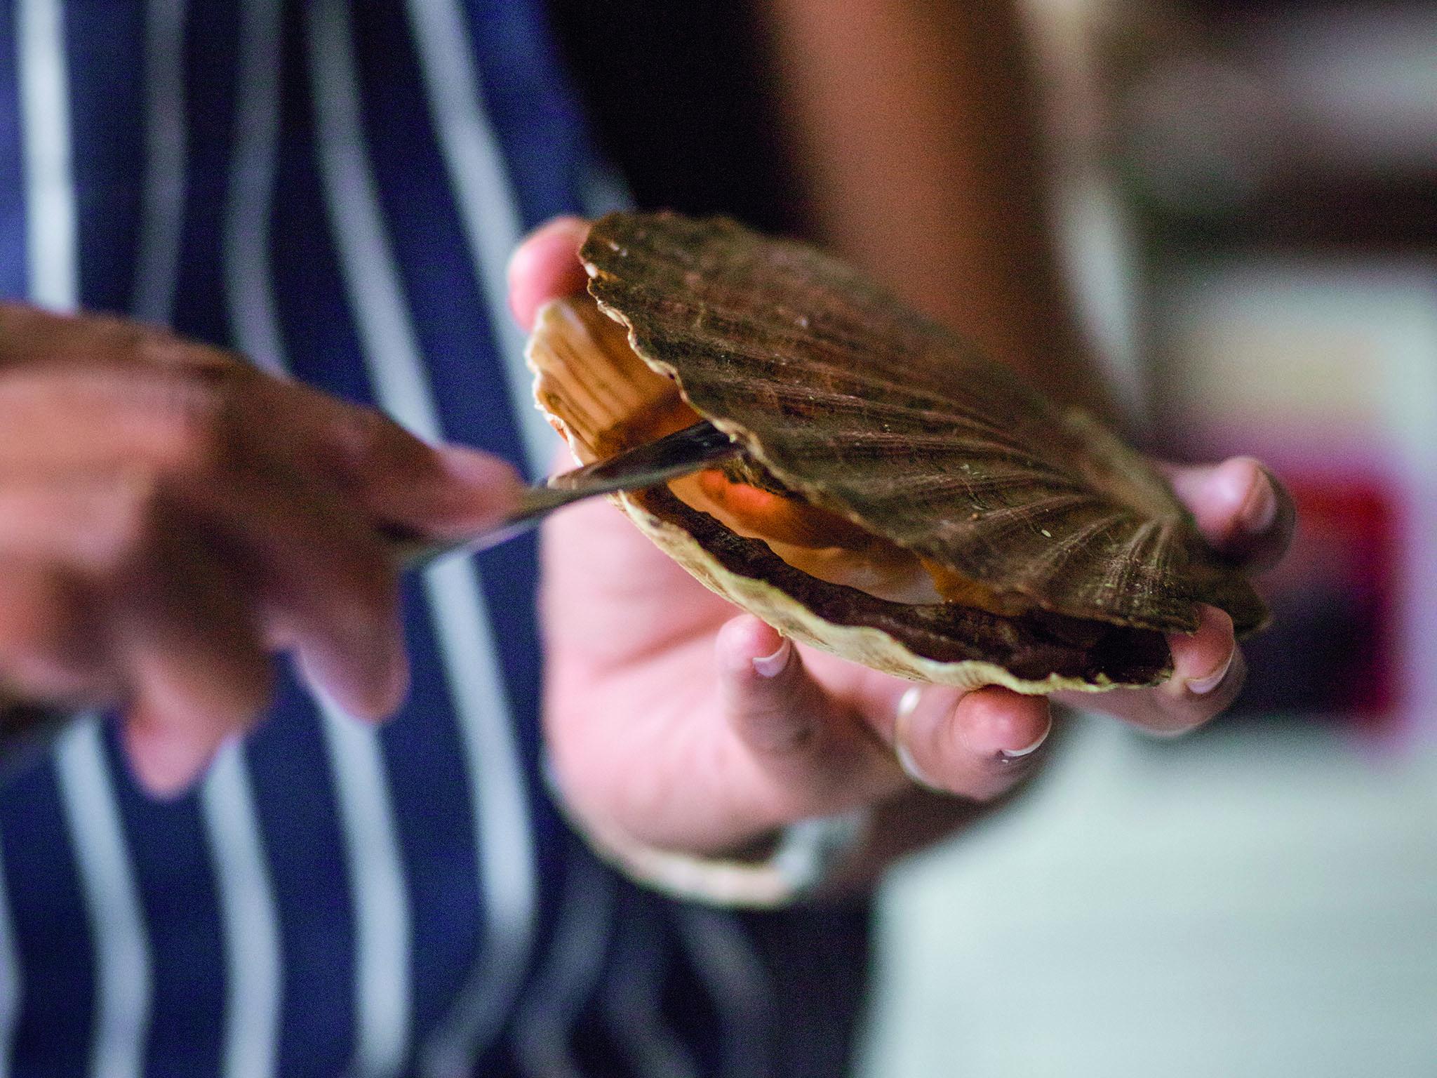
[[[1050,729],[1045,697],[915,686],[898,704],[894,749],[920,785],[990,801],[1032,770]]]

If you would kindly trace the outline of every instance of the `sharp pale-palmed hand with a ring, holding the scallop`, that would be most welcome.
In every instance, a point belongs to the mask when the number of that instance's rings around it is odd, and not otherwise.
[[[525,328],[545,299],[582,287],[585,231],[560,218],[516,252],[510,296]],[[1253,563],[1282,552],[1292,510],[1260,466],[1168,474],[1216,546]],[[570,808],[598,834],[726,854],[802,818],[878,806],[888,855],[1006,793],[1042,756],[1046,699],[920,688],[793,645],[734,617],[612,506],[556,515],[543,569],[549,747]],[[1175,671],[1157,688],[1063,699],[1154,732],[1197,726],[1242,683],[1232,621],[1204,608],[1198,631],[1171,645]]]

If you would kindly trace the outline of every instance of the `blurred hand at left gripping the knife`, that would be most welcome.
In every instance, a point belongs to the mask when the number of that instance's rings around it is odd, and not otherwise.
[[[272,653],[381,719],[408,686],[387,536],[463,535],[517,489],[231,354],[0,303],[0,697],[121,707],[154,793],[257,720]]]

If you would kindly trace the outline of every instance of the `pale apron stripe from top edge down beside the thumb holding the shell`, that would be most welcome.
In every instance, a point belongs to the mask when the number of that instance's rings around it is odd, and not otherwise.
[[[454,188],[464,239],[479,273],[496,346],[504,358],[509,400],[532,476],[546,474],[558,446],[535,407],[525,338],[509,313],[509,256],[523,224],[499,141],[484,115],[468,26],[457,0],[408,0],[430,115]]]

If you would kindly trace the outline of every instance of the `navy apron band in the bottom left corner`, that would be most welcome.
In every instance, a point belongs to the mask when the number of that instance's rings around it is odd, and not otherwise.
[[[93,946],[52,763],[0,789],[0,844],[24,970],[13,1074],[82,1074],[95,1022]]]

